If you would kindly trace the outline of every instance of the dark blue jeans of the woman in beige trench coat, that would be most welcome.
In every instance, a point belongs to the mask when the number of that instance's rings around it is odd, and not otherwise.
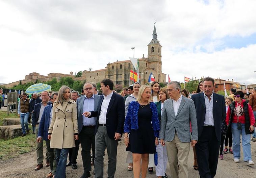
[[[55,178],[66,178],[66,164],[68,159],[69,148],[55,149],[56,151],[56,173]]]

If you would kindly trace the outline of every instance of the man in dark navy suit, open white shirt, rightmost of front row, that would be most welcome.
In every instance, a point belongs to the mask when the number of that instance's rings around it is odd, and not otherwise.
[[[203,92],[192,95],[197,111],[198,142],[196,144],[198,171],[201,178],[216,174],[221,144],[221,122],[226,119],[224,96],[215,94],[214,79],[203,79]]]

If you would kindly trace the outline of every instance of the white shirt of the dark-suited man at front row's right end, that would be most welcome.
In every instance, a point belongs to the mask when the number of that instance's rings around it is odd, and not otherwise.
[[[204,93],[204,92],[203,92]],[[214,126],[214,119],[213,119],[213,92],[210,96],[211,101],[204,93],[204,101],[205,101],[205,119],[204,119],[204,126]]]

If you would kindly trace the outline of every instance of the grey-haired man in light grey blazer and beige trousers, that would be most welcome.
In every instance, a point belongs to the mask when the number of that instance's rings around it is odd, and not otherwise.
[[[161,145],[166,146],[172,178],[188,178],[190,121],[192,126],[191,145],[195,146],[198,140],[196,109],[193,100],[180,94],[179,82],[169,82],[167,91],[170,99],[163,103],[159,139]],[[177,163],[180,167],[179,172]]]

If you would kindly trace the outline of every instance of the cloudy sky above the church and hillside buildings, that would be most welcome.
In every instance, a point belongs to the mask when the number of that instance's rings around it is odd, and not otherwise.
[[[147,57],[156,19],[162,72],[256,83],[255,0],[0,0],[0,83]]]

